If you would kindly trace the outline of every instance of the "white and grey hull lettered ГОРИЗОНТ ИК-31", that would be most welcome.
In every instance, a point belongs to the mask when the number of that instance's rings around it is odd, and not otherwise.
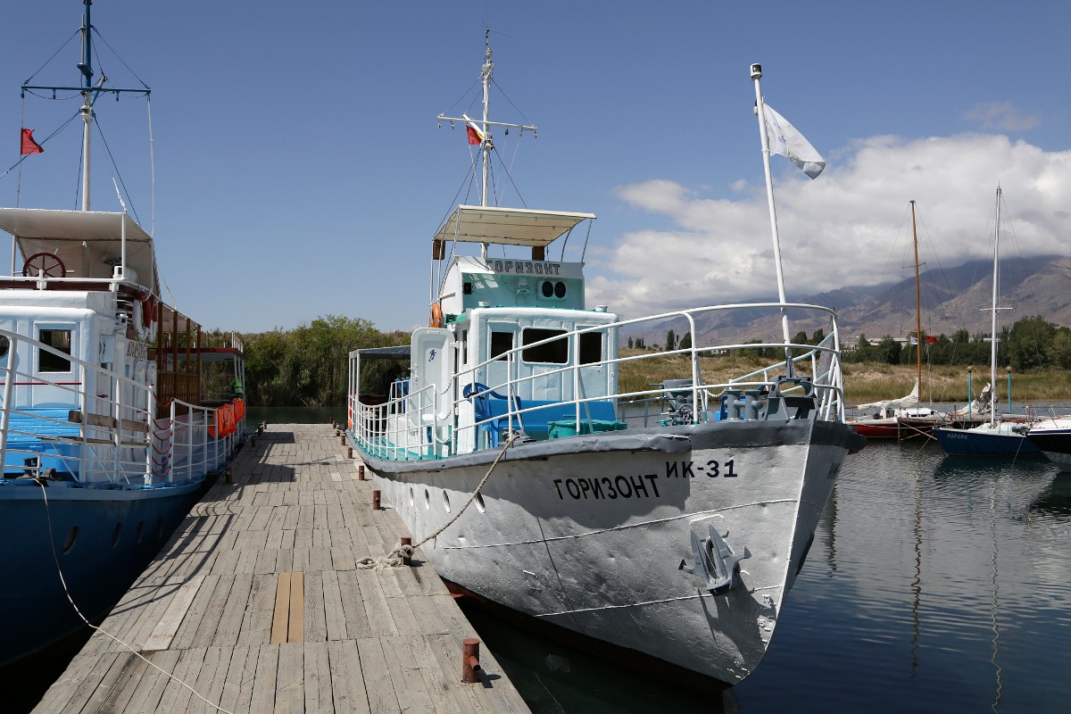
[[[480,499],[422,546],[446,580],[733,684],[766,653],[844,456],[862,443],[843,424],[791,420],[521,444],[494,467],[497,450],[364,459],[414,543],[457,515],[486,476]],[[721,594],[693,550],[693,537],[712,531],[749,556]]]

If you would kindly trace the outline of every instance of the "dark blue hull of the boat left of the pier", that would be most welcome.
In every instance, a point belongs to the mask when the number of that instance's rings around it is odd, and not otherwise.
[[[49,486],[32,481],[0,485],[4,587],[0,589],[0,665],[56,642],[85,626],[71,598],[100,621],[160,552],[205,480],[152,488]],[[52,555],[55,546],[55,558]]]

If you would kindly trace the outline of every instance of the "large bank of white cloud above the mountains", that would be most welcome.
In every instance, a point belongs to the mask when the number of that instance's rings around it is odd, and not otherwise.
[[[916,140],[877,136],[840,154],[814,181],[783,163],[774,170],[789,301],[900,279],[895,244],[910,245],[911,199],[920,216],[920,246],[929,243],[923,249],[946,268],[992,257],[998,184],[1012,229],[1002,239],[1012,242],[1005,255],[1068,253],[1071,152],[963,134]],[[639,228],[591,256],[589,304],[640,316],[775,297],[765,186],[735,182],[731,191],[740,198],[705,198],[665,180],[615,189],[631,207],[668,218],[672,228]]]

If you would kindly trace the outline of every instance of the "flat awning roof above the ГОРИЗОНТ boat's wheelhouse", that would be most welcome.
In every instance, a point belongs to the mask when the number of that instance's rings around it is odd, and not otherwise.
[[[582,221],[594,217],[593,213],[458,206],[436,231],[435,240],[545,246]]]

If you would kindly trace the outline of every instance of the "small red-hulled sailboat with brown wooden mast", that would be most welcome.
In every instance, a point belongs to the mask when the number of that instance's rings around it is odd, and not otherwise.
[[[930,407],[919,407],[919,388],[922,384],[922,299],[919,280],[919,231],[915,218],[915,201],[911,204],[911,233],[915,242],[915,364],[918,374],[910,394],[899,399],[884,399],[856,405],[856,412],[863,415],[846,420],[856,431],[868,439],[910,439],[927,437],[939,424],[947,424],[951,417]]]

